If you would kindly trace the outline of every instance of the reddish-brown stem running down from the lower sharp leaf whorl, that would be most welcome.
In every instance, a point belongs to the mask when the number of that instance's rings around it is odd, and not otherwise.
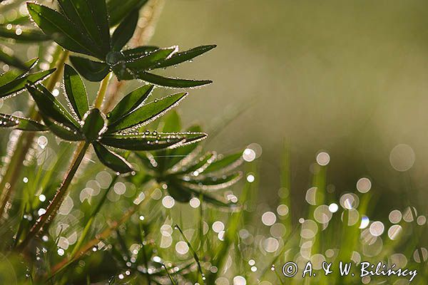
[[[77,149],[75,156],[70,169],[68,170],[66,177],[64,178],[63,182],[61,183],[61,187],[58,188],[56,191],[56,194],[54,196],[54,199],[52,199],[51,203],[46,209],[46,213],[43,214],[34,224],[34,226],[31,228],[29,234],[27,234],[26,238],[24,239],[21,244],[19,244],[18,249],[22,250],[25,249],[25,247],[29,244],[31,239],[33,239],[36,234],[39,233],[39,231],[42,229],[42,227],[45,224],[48,224],[51,222],[52,219],[54,219],[56,212],[58,211],[58,208],[61,206],[61,203],[63,202],[64,197],[67,194],[68,187],[71,184],[71,180],[73,180],[74,175],[76,175],[76,172],[78,170],[79,165],[81,164],[83,157],[86,154],[86,150],[88,150],[89,144],[87,142],[81,142]]]

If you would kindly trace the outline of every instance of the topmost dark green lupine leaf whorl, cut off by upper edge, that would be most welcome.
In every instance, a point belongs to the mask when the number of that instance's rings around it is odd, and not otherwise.
[[[118,80],[141,79],[158,86],[187,88],[203,86],[211,81],[166,78],[148,73],[153,69],[175,66],[200,56],[215,46],[199,46],[178,53],[178,47],[137,47],[123,50],[136,31],[139,9],[146,1],[109,1],[107,10],[103,0],[58,0],[61,12],[49,7],[29,3],[31,18],[46,36],[63,48],[82,53],[99,61],[72,56],[71,63],[88,81],[101,81],[108,71],[113,71]],[[132,3],[132,6],[128,6]],[[110,25],[108,12],[111,13]],[[116,16],[120,15],[120,24]],[[123,18],[124,17],[124,18]],[[117,23],[116,23],[117,22]],[[116,26],[110,35],[110,26]]]

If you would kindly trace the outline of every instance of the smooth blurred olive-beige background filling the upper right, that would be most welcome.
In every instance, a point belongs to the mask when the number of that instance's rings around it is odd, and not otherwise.
[[[414,0],[174,0],[151,43],[218,44],[177,68],[214,81],[192,90],[180,111],[216,134],[210,148],[263,147],[267,203],[277,200],[287,140],[293,202],[303,202],[311,166],[325,151],[337,195],[365,176],[374,194],[387,194],[379,207],[402,207],[408,191],[419,206],[428,182],[427,9]]]

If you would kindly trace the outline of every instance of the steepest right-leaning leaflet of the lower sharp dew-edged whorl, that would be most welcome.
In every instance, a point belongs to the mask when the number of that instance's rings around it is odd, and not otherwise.
[[[117,120],[122,118],[124,115],[128,115],[133,110],[138,108],[151,94],[153,90],[153,85],[147,84],[141,86],[136,90],[133,90],[131,93],[123,97],[123,99],[108,113],[109,123],[115,123]]]

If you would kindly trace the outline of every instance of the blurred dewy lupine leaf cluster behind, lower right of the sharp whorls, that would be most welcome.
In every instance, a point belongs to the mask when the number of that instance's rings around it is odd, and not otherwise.
[[[160,132],[178,131],[180,118],[171,112],[160,124]],[[188,129],[188,133],[200,132],[198,126]],[[242,162],[242,152],[222,157],[216,152],[200,155],[201,148],[186,145],[173,150],[159,152],[137,152],[144,165],[151,170],[153,179],[165,183],[170,195],[188,202],[192,197],[203,197],[205,202],[217,207],[233,207],[233,202],[225,202],[212,193],[223,190],[240,180],[242,174],[233,172]]]

